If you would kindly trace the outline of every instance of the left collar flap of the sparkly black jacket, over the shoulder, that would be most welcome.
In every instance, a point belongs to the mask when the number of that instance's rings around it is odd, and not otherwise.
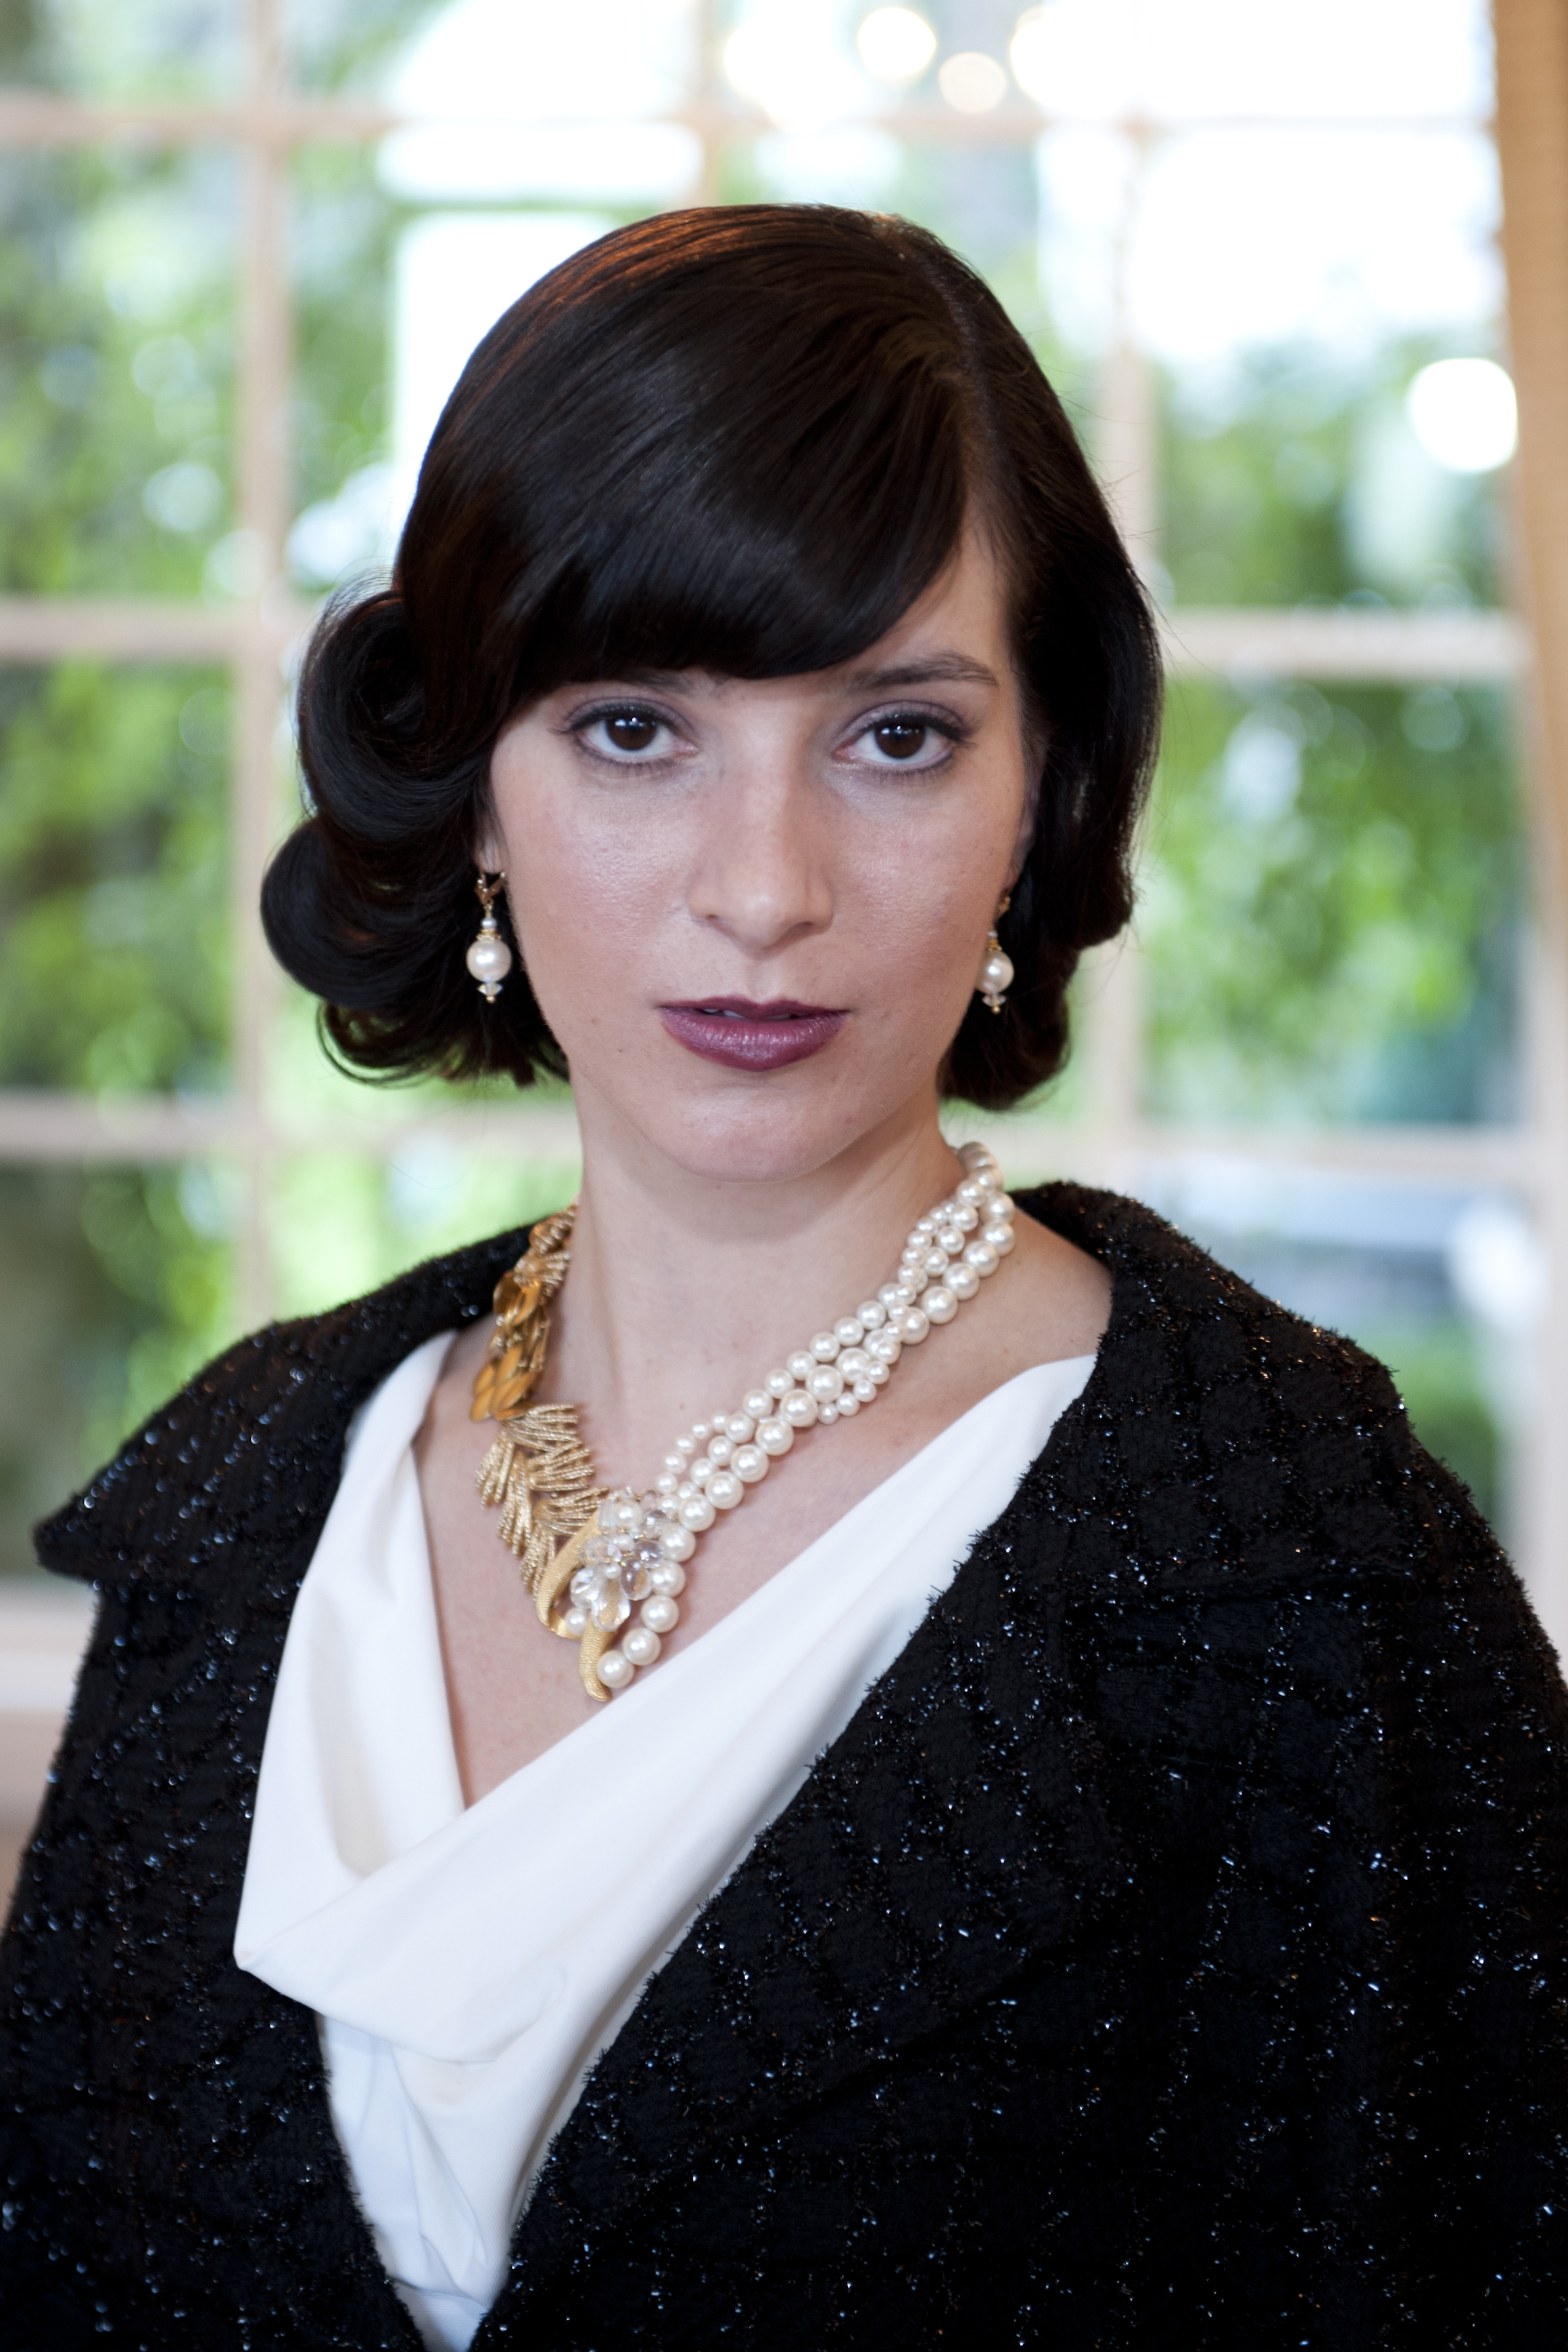
[[[237,1341],[38,1526],[42,1566],[200,1583],[240,1541],[292,1550],[320,1526],[360,1404],[425,1338],[482,1315],[524,1240],[501,1232]]]

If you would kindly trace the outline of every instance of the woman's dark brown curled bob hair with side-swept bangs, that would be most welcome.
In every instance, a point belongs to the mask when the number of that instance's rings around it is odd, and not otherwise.
[[[567,1075],[522,957],[463,967],[489,757],[527,703],[651,670],[785,677],[872,647],[978,506],[1044,746],[1034,837],[943,1091],[1001,1110],[1060,1070],[1067,983],[1131,913],[1159,647],[1063,407],[994,294],[907,221],[668,212],[531,287],[447,402],[393,586],[315,630],[313,814],[273,858],[273,953],[364,1075]],[[515,946],[515,943],[512,943]]]

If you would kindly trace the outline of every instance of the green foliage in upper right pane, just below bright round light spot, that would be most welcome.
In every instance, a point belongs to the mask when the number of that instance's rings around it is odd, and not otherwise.
[[[1258,350],[1161,395],[1175,604],[1495,604],[1497,475],[1443,473],[1403,412],[1434,343]]]

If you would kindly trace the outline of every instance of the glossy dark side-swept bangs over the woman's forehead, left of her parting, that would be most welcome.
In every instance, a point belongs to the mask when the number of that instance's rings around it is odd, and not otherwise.
[[[792,214],[644,221],[480,343],[400,557],[437,734],[475,675],[501,724],[585,677],[823,670],[936,579],[969,475],[950,322],[889,318],[875,238],[820,238],[802,287],[802,242]]]

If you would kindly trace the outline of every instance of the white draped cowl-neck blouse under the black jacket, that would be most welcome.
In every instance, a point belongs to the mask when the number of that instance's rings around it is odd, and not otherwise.
[[[465,1809],[411,1454],[449,1341],[409,1355],[350,1432],[284,1642],[235,1959],[317,2011],[381,2258],[425,2343],[461,2352],[595,2056],[1006,1508],[1093,1357],[997,1388]]]

